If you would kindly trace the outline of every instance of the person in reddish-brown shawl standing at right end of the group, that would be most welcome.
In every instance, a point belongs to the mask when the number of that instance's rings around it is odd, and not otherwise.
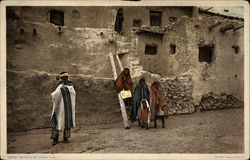
[[[151,120],[154,121],[154,127],[157,128],[157,119],[162,120],[162,127],[165,128],[165,116],[168,115],[165,96],[160,89],[159,82],[153,82],[150,87],[150,109]]]

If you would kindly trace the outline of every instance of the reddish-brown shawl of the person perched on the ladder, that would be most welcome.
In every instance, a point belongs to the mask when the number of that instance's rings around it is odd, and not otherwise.
[[[125,75],[126,69],[127,68],[125,68],[115,80],[115,87],[118,93],[123,89],[132,91],[133,81],[130,74]]]

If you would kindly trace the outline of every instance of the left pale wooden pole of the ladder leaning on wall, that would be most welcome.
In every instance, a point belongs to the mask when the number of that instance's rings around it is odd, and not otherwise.
[[[115,61],[114,61],[114,56],[113,56],[113,54],[111,52],[109,54],[109,58],[110,58],[110,64],[111,64],[112,71],[113,71],[113,78],[114,78],[114,80],[116,80],[117,73],[116,73],[116,68],[115,68]],[[120,94],[118,94],[118,99],[119,99],[119,103],[120,103],[120,107],[121,107],[124,128],[129,129],[130,127],[129,127],[129,124],[128,124],[128,117],[127,117],[127,112],[126,112],[126,109],[125,109],[125,104],[124,104],[124,101],[121,98]]]

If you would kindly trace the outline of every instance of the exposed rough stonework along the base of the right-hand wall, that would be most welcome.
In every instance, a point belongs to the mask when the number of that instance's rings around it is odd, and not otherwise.
[[[244,106],[244,102],[233,95],[213,92],[203,95],[200,103],[197,104],[192,97],[194,81],[190,75],[162,78],[160,82],[170,115],[194,113],[198,108],[200,110],[214,110]]]

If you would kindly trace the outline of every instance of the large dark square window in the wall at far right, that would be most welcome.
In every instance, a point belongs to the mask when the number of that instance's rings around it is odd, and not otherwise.
[[[213,60],[213,46],[200,46],[199,47],[199,61],[211,63]]]

